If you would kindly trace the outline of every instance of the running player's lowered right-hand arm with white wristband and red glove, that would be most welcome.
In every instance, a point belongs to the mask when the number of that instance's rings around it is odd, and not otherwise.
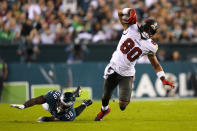
[[[157,60],[156,55],[149,54],[148,59],[149,59],[150,63],[152,64],[155,72],[157,73],[157,76],[162,81],[163,85],[169,85],[171,88],[174,88],[175,86],[170,81],[166,80],[165,73],[164,73],[161,65],[159,64],[159,61]]]

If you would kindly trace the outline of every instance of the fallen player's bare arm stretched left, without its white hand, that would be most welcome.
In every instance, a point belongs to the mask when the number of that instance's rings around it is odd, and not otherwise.
[[[28,108],[28,107],[31,107],[34,105],[44,104],[45,102],[46,102],[45,96],[42,95],[42,96],[32,98],[32,99],[26,101],[24,103],[24,106],[25,106],[25,108]]]

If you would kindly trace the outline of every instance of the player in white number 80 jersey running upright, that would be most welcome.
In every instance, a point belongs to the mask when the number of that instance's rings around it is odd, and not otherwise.
[[[124,31],[110,63],[105,68],[102,108],[95,121],[102,120],[110,112],[109,100],[117,86],[119,86],[119,106],[122,111],[125,110],[131,98],[135,64],[141,56],[147,55],[163,85],[174,88],[174,85],[165,78],[165,73],[156,58],[158,45],[151,39],[159,27],[157,22],[146,19],[139,26],[136,11],[131,8],[120,10],[118,16]]]

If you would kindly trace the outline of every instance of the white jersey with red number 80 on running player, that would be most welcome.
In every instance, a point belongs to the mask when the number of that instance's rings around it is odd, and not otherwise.
[[[141,39],[137,24],[133,24],[123,31],[116,51],[105,69],[105,76],[113,70],[121,76],[134,76],[136,61],[144,55],[156,53],[158,45],[152,39]],[[112,67],[113,70],[108,68]]]

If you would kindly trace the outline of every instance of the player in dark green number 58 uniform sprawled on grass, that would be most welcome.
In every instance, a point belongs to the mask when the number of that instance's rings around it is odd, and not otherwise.
[[[38,122],[47,121],[73,121],[81,112],[89,105],[92,104],[92,100],[84,100],[83,103],[74,108],[75,97],[79,97],[81,87],[78,87],[75,92],[60,93],[58,91],[49,91],[46,95],[33,98],[25,102],[23,105],[11,104],[11,107],[18,109],[25,109],[37,104],[48,104],[48,111],[51,113],[51,117],[40,117]]]

